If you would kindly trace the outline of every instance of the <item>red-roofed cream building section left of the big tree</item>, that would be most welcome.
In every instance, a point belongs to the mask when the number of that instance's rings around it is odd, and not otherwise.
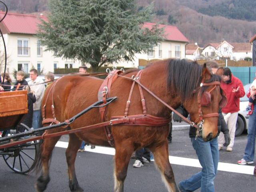
[[[0,12],[0,17],[3,16],[4,12]],[[46,20],[44,16],[8,13],[1,22],[8,55],[7,72],[12,74],[15,69],[28,73],[32,67],[44,72],[53,72],[54,68],[78,68],[81,65],[78,61],[55,57],[54,52],[44,50],[36,37],[39,17]]]

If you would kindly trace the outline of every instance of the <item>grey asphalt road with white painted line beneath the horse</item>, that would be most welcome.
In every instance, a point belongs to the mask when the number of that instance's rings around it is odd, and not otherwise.
[[[63,142],[55,147],[50,165],[50,183],[46,192],[68,192],[68,175],[65,158],[65,142],[68,136],[61,138]],[[219,171],[214,183],[216,192],[255,192],[256,177],[250,170],[253,166],[240,166],[236,164],[243,155],[246,145],[246,135],[237,137],[233,152],[220,151]],[[112,148],[96,146],[92,152],[78,153],[76,158],[76,175],[78,182],[86,192],[112,192],[113,155]],[[102,153],[97,153],[100,151]],[[173,132],[173,142],[169,144],[169,155],[176,182],[186,179],[200,171],[197,157],[188,138],[188,130]],[[165,192],[167,191],[161,181],[159,172],[154,163],[145,164],[141,168],[133,168],[134,159],[130,161],[128,175],[125,181],[126,192]],[[246,171],[249,169],[249,172]],[[224,171],[225,170],[225,171]],[[238,172],[245,173],[238,173]],[[36,174],[16,174],[10,170],[4,160],[0,158],[0,191],[1,192],[32,192],[36,182]],[[200,190],[197,190],[199,192]]]

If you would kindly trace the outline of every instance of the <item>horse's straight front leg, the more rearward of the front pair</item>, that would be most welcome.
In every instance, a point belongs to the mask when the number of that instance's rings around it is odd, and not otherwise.
[[[124,180],[127,175],[128,164],[134,150],[132,145],[127,143],[116,143],[115,169],[114,169],[114,192],[124,191]]]

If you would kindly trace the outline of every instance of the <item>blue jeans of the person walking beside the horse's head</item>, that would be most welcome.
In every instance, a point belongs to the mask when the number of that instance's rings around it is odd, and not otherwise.
[[[218,138],[204,142],[202,138],[191,138],[196,150],[202,171],[179,183],[181,192],[192,192],[201,187],[201,192],[214,192],[214,178],[218,170],[219,150]]]

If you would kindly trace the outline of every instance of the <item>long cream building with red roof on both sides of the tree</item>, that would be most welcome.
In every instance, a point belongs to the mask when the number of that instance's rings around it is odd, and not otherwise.
[[[4,12],[0,12],[3,18]],[[12,74],[13,70],[24,70],[28,73],[34,67],[43,70],[44,73],[54,71],[54,68],[78,68],[81,63],[77,60],[66,60],[54,56],[54,52],[45,51],[38,40],[37,24],[39,18],[47,20],[44,16],[31,14],[8,13],[0,23],[0,29],[4,35],[8,55],[7,72]],[[153,23],[145,23],[144,27],[152,28]],[[133,62],[118,62],[108,64],[109,66],[138,67],[142,60],[185,58],[185,45],[187,38],[175,26],[159,25],[164,28],[164,41],[154,48],[153,52],[136,54]],[[1,52],[4,47],[1,46]],[[87,64],[90,67],[89,64]]]

